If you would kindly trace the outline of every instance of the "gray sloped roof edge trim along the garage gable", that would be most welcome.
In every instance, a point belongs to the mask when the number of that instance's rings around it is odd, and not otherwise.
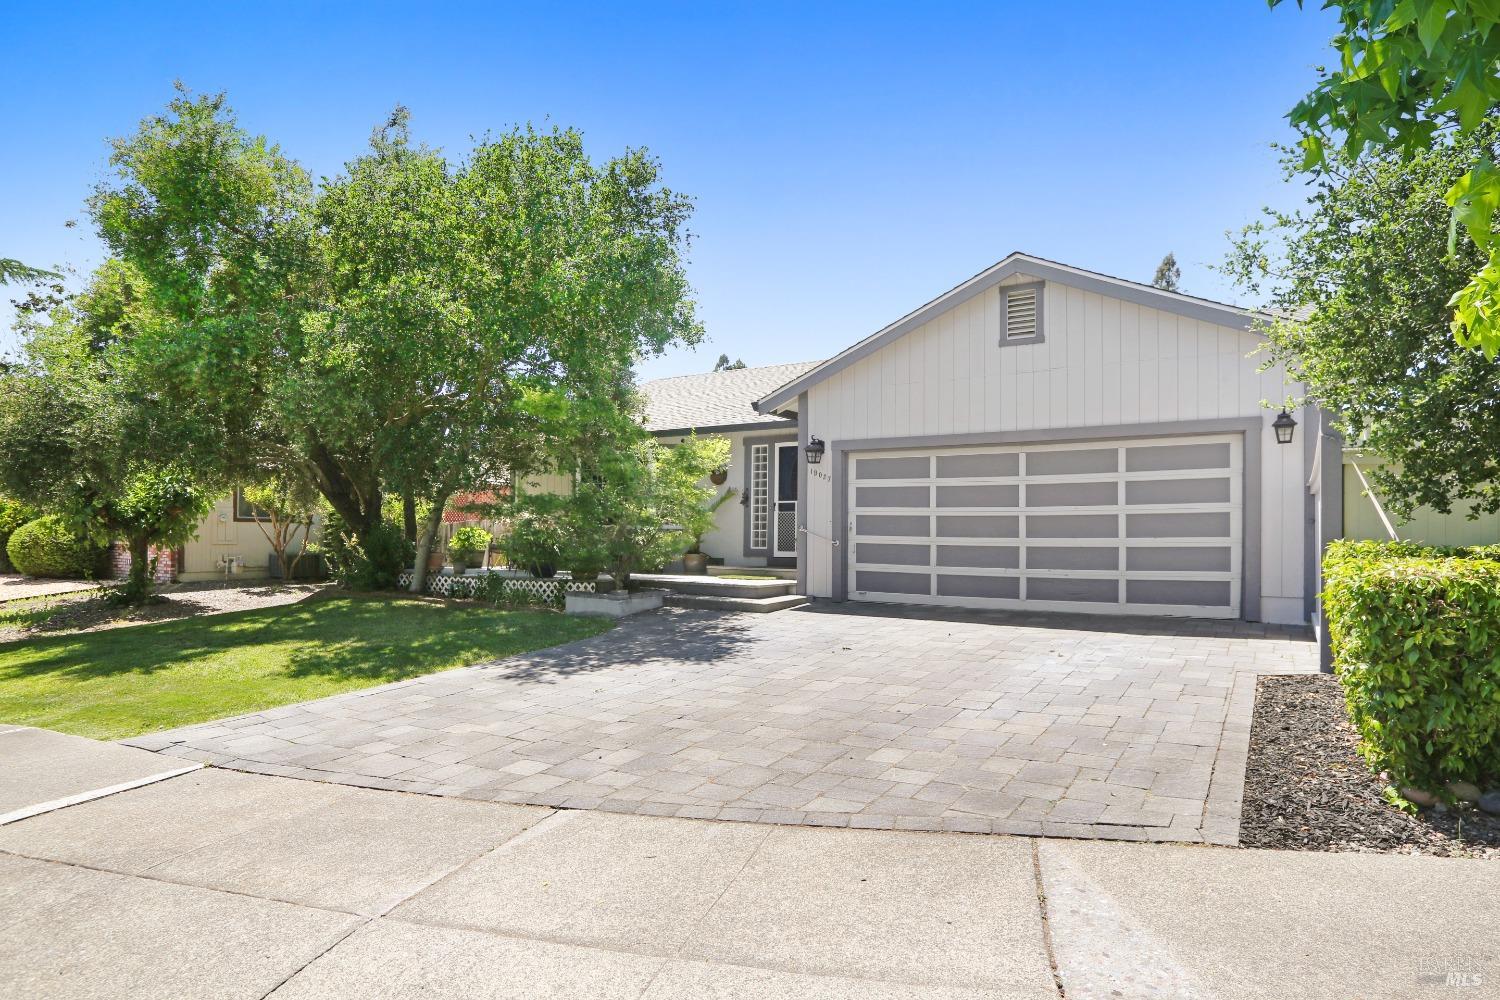
[[[786,406],[789,402],[795,400],[798,394],[806,391],[810,385],[816,385],[830,375],[842,372],[855,361],[867,358],[897,337],[922,325],[938,313],[952,309],[954,306],[974,298],[980,292],[994,288],[1012,274],[1024,274],[1028,277],[1040,277],[1059,285],[1083,288],[1101,295],[1110,295],[1113,298],[1137,303],[1140,306],[1149,306],[1150,309],[1173,312],[1192,319],[1202,319],[1203,322],[1230,327],[1232,330],[1250,331],[1257,319],[1270,319],[1269,313],[1254,309],[1240,309],[1239,306],[1230,306],[1209,298],[1197,298],[1196,295],[1184,295],[1182,292],[1168,292],[1154,285],[1128,282],[1124,277],[1112,277],[1096,271],[1086,271],[1080,267],[1070,267],[1068,264],[1058,264],[1056,261],[1016,252],[999,264],[980,271],[957,288],[950,288],[926,306],[906,313],[891,325],[874,331],[860,343],[840,351],[822,364],[818,364],[789,379],[784,385],[777,387],[776,391],[768,391],[756,400],[756,409],[766,414],[776,412],[777,408]]]

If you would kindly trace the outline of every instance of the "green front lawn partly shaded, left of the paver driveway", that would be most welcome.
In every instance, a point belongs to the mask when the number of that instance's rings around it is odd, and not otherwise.
[[[399,597],[0,643],[0,723],[122,739],[597,636],[608,619]]]

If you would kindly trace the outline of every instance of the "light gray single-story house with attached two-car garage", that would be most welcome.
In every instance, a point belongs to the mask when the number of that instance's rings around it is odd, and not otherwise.
[[[1306,622],[1338,445],[1308,408],[1278,442],[1257,318],[1012,253],[826,361],[642,390],[734,441],[705,550],[804,594]]]

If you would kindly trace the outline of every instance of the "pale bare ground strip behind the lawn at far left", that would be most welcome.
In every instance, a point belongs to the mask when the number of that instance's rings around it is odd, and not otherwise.
[[[225,615],[260,607],[296,604],[327,588],[326,583],[177,583],[165,586],[159,600],[142,607],[118,607],[100,598],[96,592],[66,594],[51,600],[33,600],[24,604],[30,612],[21,624],[0,624],[0,642],[16,642],[38,636],[62,633],[104,631],[129,625],[146,625],[198,615]],[[0,604],[0,609],[4,606]],[[20,607],[20,606],[16,606]]]

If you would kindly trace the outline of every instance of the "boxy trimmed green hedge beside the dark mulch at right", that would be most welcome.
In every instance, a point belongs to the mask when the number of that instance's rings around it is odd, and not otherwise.
[[[1323,609],[1334,666],[1365,759],[1398,784],[1500,777],[1497,553],[1410,543],[1329,549]]]

